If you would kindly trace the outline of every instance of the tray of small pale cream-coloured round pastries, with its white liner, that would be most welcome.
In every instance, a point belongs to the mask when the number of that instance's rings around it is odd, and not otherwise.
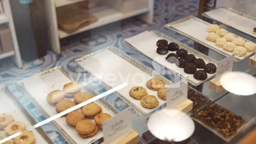
[[[229,57],[235,55],[235,62],[247,58],[256,51],[256,44],[232,34],[216,24],[188,16],[168,23],[166,28],[176,31],[210,49]]]

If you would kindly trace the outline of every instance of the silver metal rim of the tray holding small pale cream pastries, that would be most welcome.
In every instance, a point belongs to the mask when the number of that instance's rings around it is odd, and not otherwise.
[[[200,44],[203,44],[204,46],[209,47],[210,49],[212,49],[212,50],[214,50],[214,51],[216,51],[216,52],[218,52],[218,53],[224,55],[225,57],[229,57],[229,56],[230,56],[230,54],[226,53],[225,51],[218,50],[218,49],[216,49],[215,47],[213,47],[213,46],[211,46],[211,45],[209,45],[209,44],[206,44],[206,43],[200,41],[199,39],[197,39],[197,38],[195,38],[195,37],[192,37],[192,36],[190,36],[190,35],[188,35],[188,34],[186,34],[186,33],[183,33],[183,32],[180,31],[179,29],[176,29],[176,28],[172,27],[172,25],[175,25],[175,24],[178,24],[178,23],[181,23],[181,22],[190,20],[190,19],[195,19],[195,20],[197,20],[197,21],[199,21],[199,22],[204,23],[205,25],[210,25],[210,24],[211,24],[211,23],[206,22],[206,21],[204,21],[204,20],[198,19],[198,18],[196,18],[196,17],[194,17],[194,16],[192,16],[192,15],[189,15],[188,17],[185,17],[185,18],[179,19],[179,20],[177,20],[177,21],[168,23],[168,24],[166,24],[164,27],[169,28],[169,29],[171,29],[171,30],[173,30],[173,31],[175,31],[175,32],[177,32],[177,33],[180,33],[180,34],[182,34],[183,36],[186,36],[186,37],[192,39],[192,40],[195,41],[195,42],[198,42],[198,43],[200,43]],[[237,36],[237,35],[235,35],[235,34],[234,34],[234,36],[244,39],[243,37]],[[247,40],[247,39],[244,39],[244,41],[248,41],[248,40]],[[251,53],[247,52],[247,55],[246,55],[246,57],[244,57],[244,58],[238,58],[238,57],[235,56],[235,60],[234,60],[234,61],[235,61],[235,62],[238,62],[238,61],[240,61],[240,60],[243,60],[243,59],[249,57],[249,55],[251,55],[251,54],[253,54],[253,52],[251,52]]]

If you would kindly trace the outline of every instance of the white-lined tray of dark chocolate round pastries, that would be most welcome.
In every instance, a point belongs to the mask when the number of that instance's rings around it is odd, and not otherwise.
[[[156,30],[126,38],[124,43],[173,73],[186,75],[195,86],[214,76],[217,70],[216,60]]]

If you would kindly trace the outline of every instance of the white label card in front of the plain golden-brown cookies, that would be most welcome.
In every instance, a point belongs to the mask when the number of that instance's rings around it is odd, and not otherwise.
[[[129,108],[111,117],[102,124],[103,139],[106,144],[122,137],[132,130],[132,112]]]

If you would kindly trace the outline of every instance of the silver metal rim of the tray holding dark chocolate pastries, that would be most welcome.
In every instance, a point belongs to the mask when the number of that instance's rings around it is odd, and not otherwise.
[[[196,57],[198,57],[198,58],[202,58],[202,59],[204,59],[204,60],[206,60],[206,61],[208,61],[208,62],[214,63],[216,66],[218,65],[218,61],[216,61],[216,60],[214,60],[214,59],[208,57],[207,55],[205,55],[205,54],[203,54],[203,53],[201,53],[201,52],[198,52],[198,51],[195,50],[195,49],[192,49],[191,47],[187,46],[186,44],[183,44],[183,43],[181,43],[181,42],[179,42],[179,41],[177,41],[177,40],[175,40],[175,39],[173,39],[173,38],[171,38],[171,37],[169,37],[169,36],[167,36],[167,35],[165,35],[165,34],[163,34],[163,33],[160,33],[159,31],[152,30],[152,31],[150,31],[150,33],[154,33],[154,34],[157,35],[158,37],[161,37],[162,39],[165,39],[165,40],[168,41],[168,42],[177,43],[182,49],[187,50],[188,53],[194,54],[194,55],[195,55]],[[146,57],[148,57],[146,53],[143,53],[143,52],[141,52],[140,50],[136,49],[136,47],[132,46],[130,43],[124,41],[124,44],[127,45],[127,46],[132,47],[133,49],[139,51],[140,53],[142,53],[142,54],[144,54]],[[150,58],[150,57],[148,57],[148,58],[151,59],[151,60],[153,60],[153,58]],[[157,61],[155,61],[155,62],[157,62]],[[159,65],[161,65],[161,63],[159,63],[159,62],[157,62],[157,63],[158,63]],[[179,70],[177,70],[177,69],[171,69],[171,68],[168,68],[168,67],[166,67],[166,66],[164,66],[164,65],[162,65],[162,66],[165,67],[166,69],[171,70],[174,74],[177,74],[177,75],[179,75],[180,77],[183,77],[183,75],[181,75],[181,74],[179,73]],[[215,74],[212,74],[211,76],[208,76],[207,79],[210,79],[210,78],[211,78],[212,76],[214,76],[214,75],[215,75]],[[193,85],[195,85],[195,86],[197,86],[197,85],[202,84],[203,82],[207,81],[207,79],[205,79],[204,81],[201,81],[201,82],[199,82],[199,83],[195,83],[195,82],[191,81],[190,78],[188,78],[188,82],[191,83],[191,84],[193,84]]]

